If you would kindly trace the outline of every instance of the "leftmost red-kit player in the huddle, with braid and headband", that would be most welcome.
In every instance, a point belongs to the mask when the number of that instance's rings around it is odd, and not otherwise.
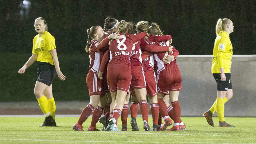
[[[86,77],[86,84],[89,89],[90,103],[83,109],[78,122],[72,127],[73,130],[77,131],[84,131],[82,125],[91,115],[94,108],[96,108],[101,97],[101,81],[97,77],[99,64],[103,55],[100,49],[106,46],[110,39],[120,39],[119,34],[112,34],[104,39],[104,31],[100,26],[93,26],[87,29],[87,34],[88,40],[85,50],[89,52],[90,69]],[[92,41],[90,41],[91,39]],[[93,130],[98,131],[95,127],[88,128],[88,131]]]

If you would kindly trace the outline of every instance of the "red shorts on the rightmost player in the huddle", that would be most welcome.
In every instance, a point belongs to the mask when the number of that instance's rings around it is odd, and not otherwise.
[[[182,78],[180,70],[177,64],[171,65],[165,68],[159,73],[159,79],[157,83],[157,90],[160,93],[167,93],[169,91],[182,90]]]

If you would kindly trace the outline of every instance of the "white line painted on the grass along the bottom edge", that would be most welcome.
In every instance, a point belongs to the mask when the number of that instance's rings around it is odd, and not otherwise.
[[[116,142],[116,141],[95,141],[95,140],[88,140],[88,141],[68,141],[68,140],[36,140],[36,139],[1,139],[0,140],[11,140],[11,141],[50,141],[50,142]],[[125,142],[140,142],[140,143],[160,143],[157,141],[147,142],[147,141],[125,141]],[[207,143],[207,144],[256,144],[255,142],[196,142],[196,141],[175,141],[175,143]]]

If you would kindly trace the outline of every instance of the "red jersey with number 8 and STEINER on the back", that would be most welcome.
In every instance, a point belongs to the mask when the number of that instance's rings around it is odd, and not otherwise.
[[[130,54],[133,43],[146,36],[146,33],[122,34],[121,40],[112,40],[110,42],[110,60],[108,69],[111,68],[129,68],[131,69]]]

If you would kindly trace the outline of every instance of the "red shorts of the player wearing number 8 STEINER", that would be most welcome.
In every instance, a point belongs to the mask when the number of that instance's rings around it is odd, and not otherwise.
[[[129,93],[132,72],[129,68],[111,68],[107,72],[108,89],[111,92],[122,90]]]

